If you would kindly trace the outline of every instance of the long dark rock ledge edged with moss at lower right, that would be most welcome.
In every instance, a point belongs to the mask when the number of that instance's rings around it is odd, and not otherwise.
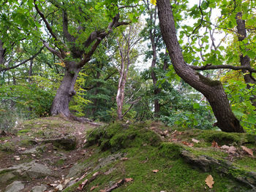
[[[234,166],[230,161],[214,159],[207,155],[194,155],[187,150],[183,150],[181,156],[189,164],[202,169],[204,172],[209,172],[211,169],[216,170],[249,185],[256,191],[256,172],[247,172]]]

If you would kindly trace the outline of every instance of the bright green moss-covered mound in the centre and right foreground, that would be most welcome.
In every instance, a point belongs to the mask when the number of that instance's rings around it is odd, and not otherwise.
[[[162,132],[165,137],[160,136]],[[90,191],[94,186],[97,186],[94,191],[101,191],[110,188],[123,178],[133,180],[118,186],[114,191],[252,190],[251,186],[246,184],[246,180],[240,180],[237,175],[239,173],[241,177],[248,179],[249,176],[246,175],[248,172],[242,172],[242,168],[238,166],[234,168],[235,166],[229,161],[225,164],[224,158],[228,154],[211,147],[213,138],[206,137],[208,133],[196,129],[179,132],[171,128],[159,127],[157,123],[152,126],[145,123],[127,125],[119,122],[96,128],[88,134],[86,143],[86,147],[94,150],[94,153],[80,162],[85,165],[83,169],[91,168],[91,171],[83,180],[69,186],[64,191],[77,191],[78,186],[84,180],[89,180],[89,183],[84,186],[83,191]],[[219,131],[211,133],[218,134]],[[173,135],[176,135],[175,142],[172,141]],[[226,134],[224,135],[227,137]],[[192,142],[193,138],[200,142],[195,143],[193,147],[184,145],[185,142]],[[227,138],[230,139],[230,137]],[[227,142],[240,143],[240,140],[235,137]],[[198,169],[200,167],[195,165],[195,162],[187,161],[185,153],[190,154],[195,161],[199,159],[198,156],[203,157],[202,159],[206,162],[200,162],[206,165],[206,169]],[[111,156],[118,156],[118,154],[123,155],[113,161],[108,161],[108,164],[101,164],[102,161],[107,161]],[[250,158],[249,161],[251,160]],[[222,163],[226,173],[220,171]],[[230,164],[232,166],[225,166]],[[95,172],[99,172],[99,176],[91,180]],[[212,189],[208,188],[205,183],[209,174],[214,177]]]

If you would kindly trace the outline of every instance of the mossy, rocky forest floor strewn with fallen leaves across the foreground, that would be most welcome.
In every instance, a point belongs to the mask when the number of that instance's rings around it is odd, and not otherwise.
[[[255,152],[253,134],[39,118],[0,136],[0,191],[255,191]]]

